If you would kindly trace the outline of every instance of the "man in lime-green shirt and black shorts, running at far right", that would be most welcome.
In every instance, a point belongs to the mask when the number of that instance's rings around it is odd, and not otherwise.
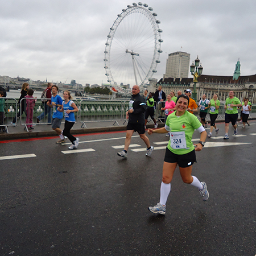
[[[242,104],[237,97],[234,97],[233,90],[229,92],[229,98],[226,98],[226,103],[224,106],[225,112],[225,135],[224,139],[229,139],[229,123],[232,123],[234,127],[234,135],[237,135],[237,118],[238,111],[237,107],[241,107]]]

